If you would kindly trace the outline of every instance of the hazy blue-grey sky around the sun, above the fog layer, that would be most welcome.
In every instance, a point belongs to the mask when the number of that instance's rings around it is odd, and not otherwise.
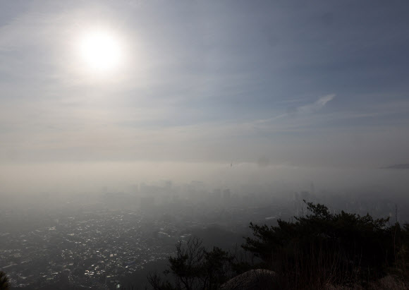
[[[407,1],[1,0],[0,163],[408,163],[408,15]],[[111,70],[80,57],[95,30],[120,47]]]

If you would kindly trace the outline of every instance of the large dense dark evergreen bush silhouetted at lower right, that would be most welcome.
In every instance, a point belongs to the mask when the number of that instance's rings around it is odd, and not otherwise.
[[[325,205],[306,205],[310,213],[295,217],[295,222],[250,223],[254,237],[246,238],[243,248],[276,272],[293,271],[297,278],[341,284],[382,277],[395,262],[401,248],[398,223],[343,211],[331,214]]]

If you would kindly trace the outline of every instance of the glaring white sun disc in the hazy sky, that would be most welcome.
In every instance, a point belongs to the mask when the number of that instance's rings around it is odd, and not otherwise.
[[[95,31],[83,36],[80,54],[93,71],[111,71],[121,64],[121,46],[109,32]]]

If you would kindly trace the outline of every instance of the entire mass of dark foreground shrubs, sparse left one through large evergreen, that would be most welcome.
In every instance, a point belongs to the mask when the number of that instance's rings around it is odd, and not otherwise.
[[[348,212],[331,213],[325,205],[307,203],[307,214],[277,226],[250,223],[253,236],[242,248],[256,258],[239,259],[220,248],[207,250],[198,238],[176,245],[169,257],[173,282],[151,274],[155,290],[220,289],[231,277],[250,269],[276,273],[266,289],[324,289],[331,285],[374,288],[386,275],[409,281],[409,225]],[[401,288],[399,288],[401,289]]]

